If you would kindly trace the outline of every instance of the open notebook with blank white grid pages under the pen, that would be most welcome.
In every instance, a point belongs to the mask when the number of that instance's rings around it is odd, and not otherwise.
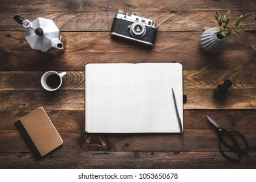
[[[180,133],[183,127],[182,64],[85,65],[85,131]]]

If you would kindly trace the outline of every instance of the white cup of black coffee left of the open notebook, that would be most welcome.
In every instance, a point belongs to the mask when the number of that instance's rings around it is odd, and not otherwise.
[[[48,91],[57,90],[63,83],[62,77],[64,75],[66,75],[66,72],[57,73],[55,71],[49,71],[44,73],[41,78],[42,87]]]

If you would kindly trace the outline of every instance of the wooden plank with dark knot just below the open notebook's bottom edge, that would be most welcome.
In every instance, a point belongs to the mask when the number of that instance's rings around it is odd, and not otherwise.
[[[249,146],[256,146],[255,130],[240,129]],[[30,151],[18,131],[0,131],[0,152]],[[87,135],[59,133],[63,146],[57,151],[218,151],[214,129],[186,129],[179,134]],[[87,138],[86,138],[87,137]],[[87,139],[87,140],[85,140]],[[102,141],[100,141],[102,140]]]

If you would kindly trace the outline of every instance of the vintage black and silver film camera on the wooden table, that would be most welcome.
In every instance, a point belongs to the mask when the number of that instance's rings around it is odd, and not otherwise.
[[[152,46],[157,32],[156,21],[118,10],[110,34]]]

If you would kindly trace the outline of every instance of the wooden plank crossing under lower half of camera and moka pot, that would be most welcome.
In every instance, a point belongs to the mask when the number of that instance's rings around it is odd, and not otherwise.
[[[201,48],[199,45],[200,32],[159,32],[153,49],[139,47],[136,44],[119,40],[111,37],[109,32],[63,32],[66,38],[66,51],[64,54],[70,53],[126,53],[127,50],[132,53],[190,53],[199,54]],[[0,51],[2,53],[19,53],[20,51],[29,55],[38,53],[31,49],[24,38],[25,32],[17,31],[1,31],[0,32]],[[256,46],[255,34],[241,32],[240,35],[234,34],[227,46],[223,49],[225,52],[232,52],[236,56],[242,54],[243,51],[253,51]],[[118,48],[117,48],[118,47]],[[188,51],[189,50],[189,51]],[[39,51],[40,53],[40,51]],[[44,54],[37,54],[45,55]],[[232,54],[232,53],[229,53]],[[207,54],[208,55],[208,54]],[[198,55],[196,57],[199,57]],[[246,55],[244,55],[246,57]]]

